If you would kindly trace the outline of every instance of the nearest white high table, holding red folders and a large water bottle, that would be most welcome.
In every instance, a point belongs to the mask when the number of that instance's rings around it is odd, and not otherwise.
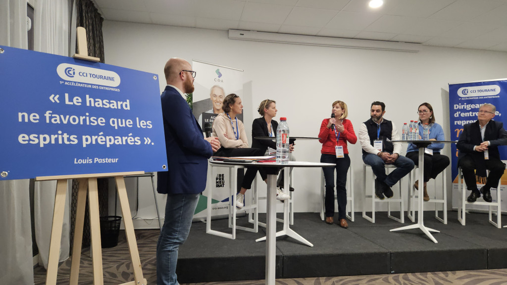
[[[335,166],[334,164],[323,164],[320,162],[306,162],[306,161],[289,161],[288,164],[276,164],[276,162],[224,162],[224,161],[209,161],[215,165],[240,165],[240,166],[255,166],[263,167],[268,174],[268,205],[266,207],[266,284],[275,285],[275,257],[276,257],[276,175],[278,171],[284,167],[325,167]],[[285,234],[297,234],[289,229]],[[293,236],[294,237],[294,236]]]

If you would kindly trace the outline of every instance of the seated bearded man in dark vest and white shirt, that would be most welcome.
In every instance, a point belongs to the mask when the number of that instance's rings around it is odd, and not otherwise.
[[[383,200],[392,197],[392,185],[396,184],[405,175],[414,169],[414,162],[400,155],[402,146],[400,143],[392,143],[391,140],[399,140],[400,136],[396,126],[384,119],[385,104],[375,101],[370,109],[370,119],[361,124],[359,130],[359,142],[363,148],[363,161],[372,167],[377,177],[375,179],[375,195]],[[396,169],[389,175],[385,174],[385,165],[394,165]]]

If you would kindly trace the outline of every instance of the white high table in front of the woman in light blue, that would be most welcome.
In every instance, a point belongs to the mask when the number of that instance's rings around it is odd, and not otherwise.
[[[455,141],[412,141],[412,140],[396,140],[392,142],[403,142],[403,143],[413,143],[419,149],[419,180],[422,180],[424,177],[424,148],[430,145],[431,143],[456,143]],[[409,185],[412,187],[412,185]],[[409,230],[409,229],[421,229],[434,243],[438,243],[437,239],[433,237],[430,232],[440,232],[438,230],[430,229],[424,226],[424,218],[423,218],[423,196],[421,189],[423,188],[423,183],[419,183],[419,195],[418,195],[418,204],[419,210],[417,215],[417,224],[413,224],[410,226],[405,226],[401,228],[395,228],[390,231],[400,231],[400,230]]]

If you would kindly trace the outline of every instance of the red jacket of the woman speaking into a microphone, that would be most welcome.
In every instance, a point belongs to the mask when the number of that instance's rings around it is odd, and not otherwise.
[[[318,133],[318,137],[320,138],[319,142],[322,144],[322,150],[320,153],[336,154],[335,131],[333,129],[327,128],[328,123],[329,119],[323,119],[322,124],[320,125],[320,132]],[[350,123],[349,119],[344,119],[342,124],[345,130],[343,133],[339,133],[340,138],[338,145],[343,146],[343,153],[348,154],[347,141],[351,144],[355,144],[357,142],[357,137],[354,133],[354,128],[352,127],[352,123]]]

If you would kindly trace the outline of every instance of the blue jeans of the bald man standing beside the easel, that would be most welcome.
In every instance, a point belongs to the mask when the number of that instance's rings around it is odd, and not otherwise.
[[[200,194],[168,194],[165,220],[157,242],[157,284],[178,285],[178,249],[187,239]]]

